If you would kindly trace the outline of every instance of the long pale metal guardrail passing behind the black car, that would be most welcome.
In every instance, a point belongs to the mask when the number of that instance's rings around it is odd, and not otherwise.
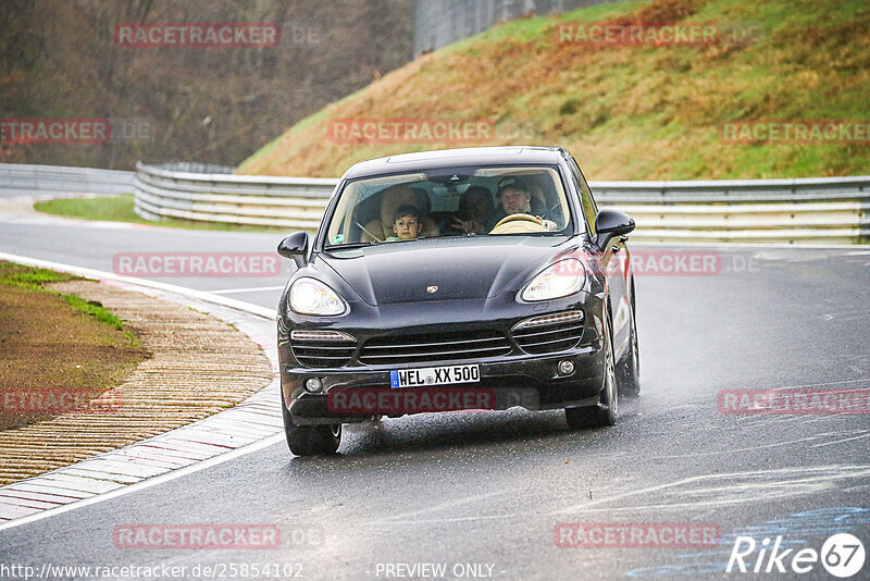
[[[136,165],[136,212],[314,230],[338,180],[232,175]],[[641,242],[852,244],[870,236],[870,176],[705,182],[592,182],[630,213]]]

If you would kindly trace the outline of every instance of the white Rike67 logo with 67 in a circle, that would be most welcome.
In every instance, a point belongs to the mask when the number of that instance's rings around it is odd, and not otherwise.
[[[847,579],[863,568],[863,544],[857,536],[848,533],[828,537],[821,552],[810,547],[782,548],[782,536],[776,536],[772,543],[770,539],[756,543],[751,536],[737,536],[725,572],[807,573],[821,563],[830,574]]]

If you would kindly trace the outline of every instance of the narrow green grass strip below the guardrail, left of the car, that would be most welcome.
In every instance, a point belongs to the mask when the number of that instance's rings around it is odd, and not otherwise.
[[[221,232],[286,232],[286,227],[250,226],[245,224],[228,224],[224,222],[197,222],[195,220],[179,220],[166,218],[160,222],[146,220],[134,211],[133,195],[108,196],[97,198],[62,198],[57,200],[38,201],[34,209],[47,214],[63,215],[65,218],[84,218],[85,220],[102,220],[109,222],[130,222],[134,224],[148,224],[189,230],[211,230]]]

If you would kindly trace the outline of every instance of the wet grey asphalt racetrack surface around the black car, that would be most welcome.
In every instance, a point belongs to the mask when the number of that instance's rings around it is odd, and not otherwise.
[[[117,251],[265,251],[277,238],[0,222],[0,251],[109,271]],[[0,564],[158,568],[128,579],[172,578],[161,567],[206,577],[198,565],[216,567],[220,578],[233,564],[236,578],[238,566],[259,564],[289,573],[282,578],[433,579],[419,567],[435,564],[447,579],[738,579],[759,576],[723,572],[737,535],[759,544],[781,535],[783,547],[818,551],[849,532],[870,545],[870,416],[739,416],[718,406],[723,390],[870,388],[870,249],[713,251],[722,256],[714,275],[637,276],[642,396],[623,400],[613,428],[570,432],[560,411],[519,409],[356,425],[335,457],[294,458],[278,443],[0,531]],[[281,279],[161,280],[215,290]],[[278,295],[226,296],[273,307]],[[571,522],[708,523],[722,542],[557,546],[555,529]],[[117,548],[115,527],[135,523],[274,524],[282,543]],[[426,574],[412,577],[414,567]],[[833,579],[818,563],[788,577]],[[859,578],[870,578],[870,565]]]

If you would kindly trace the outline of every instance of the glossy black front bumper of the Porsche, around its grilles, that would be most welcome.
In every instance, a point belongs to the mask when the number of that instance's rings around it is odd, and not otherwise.
[[[583,331],[580,341],[571,348],[547,355],[530,355],[514,338],[513,327],[529,318],[566,311],[583,311]],[[438,390],[486,392],[484,403],[488,409],[508,409],[521,406],[531,410],[587,406],[598,403],[604,384],[605,351],[602,349],[604,305],[600,295],[581,293],[573,297],[552,300],[548,304],[522,304],[511,297],[487,302],[449,301],[430,304],[391,305],[380,309],[358,306],[353,313],[341,320],[306,318],[283,312],[278,321],[278,359],[285,410],[297,425],[318,423],[346,423],[370,419],[372,416],[397,416],[434,411],[400,410],[391,408],[383,412],[341,413],[331,406],[339,392],[359,393],[383,390],[407,392],[424,390],[409,387],[390,390],[391,370],[420,369],[440,366],[476,363],[481,381],[439,386]],[[290,318],[287,320],[287,318]],[[358,350],[350,362],[343,367],[312,368],[299,362],[291,346],[290,331],[330,330],[352,335],[358,339]],[[510,353],[497,357],[462,360],[426,360],[415,363],[366,364],[361,362],[361,346],[368,341],[383,337],[401,337],[410,334],[442,332],[472,333],[497,331],[508,337]],[[560,374],[559,362],[569,360],[574,371]],[[319,379],[323,392],[308,393],[303,385],[310,378]]]

